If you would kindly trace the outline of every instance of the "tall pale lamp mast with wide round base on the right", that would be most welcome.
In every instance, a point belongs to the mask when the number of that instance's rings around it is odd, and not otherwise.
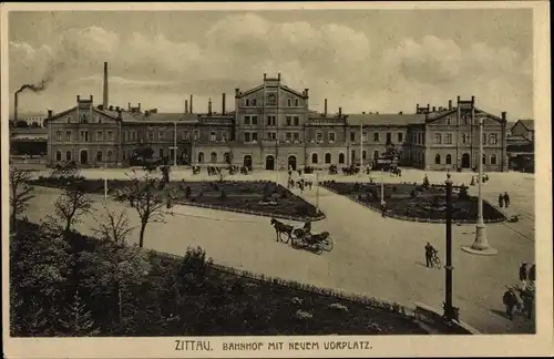
[[[499,253],[492,248],[486,240],[486,227],[483,220],[483,117],[479,119],[479,215],[475,225],[475,239],[471,246],[463,246],[462,250],[482,256],[493,256]]]

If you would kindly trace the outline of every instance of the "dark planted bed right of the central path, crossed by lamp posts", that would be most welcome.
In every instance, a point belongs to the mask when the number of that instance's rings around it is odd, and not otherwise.
[[[371,209],[381,212],[381,186],[373,183],[346,183],[327,181],[322,186],[343,195]],[[444,223],[447,188],[443,185],[422,186],[418,184],[384,184],[387,216],[403,220]],[[454,186],[452,194],[452,220],[475,223],[479,199],[466,195],[466,187]],[[483,201],[483,218],[486,223],[497,223],[506,217]]]

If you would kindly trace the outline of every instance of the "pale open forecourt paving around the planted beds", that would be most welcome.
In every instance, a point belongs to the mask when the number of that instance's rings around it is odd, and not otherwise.
[[[507,176],[510,175],[510,178]],[[509,191],[516,211],[529,211],[533,197],[533,181],[523,174],[493,174],[485,186],[489,196],[499,191]],[[102,172],[86,173],[88,177],[101,177]],[[121,171],[111,177],[122,177]],[[189,178],[187,172],[175,172],[175,178]],[[249,178],[276,180],[275,173],[258,173]],[[335,176],[337,181],[363,181]],[[421,178],[417,178],[421,177]],[[433,183],[442,181],[444,174],[429,173]],[[453,174],[453,181],[466,181],[471,174]],[[201,177],[196,177],[201,178]],[[387,182],[421,182],[423,173],[407,171],[400,178],[386,176]],[[511,185],[517,178],[520,186]],[[238,180],[247,180],[245,176]],[[279,182],[286,174],[279,174]],[[496,182],[497,181],[497,182]],[[466,182],[469,183],[469,182]],[[526,187],[524,187],[526,186]],[[531,188],[531,194],[529,194]],[[472,187],[471,191],[474,188]],[[30,218],[40,219],[52,211],[58,191],[40,188],[31,208]],[[304,196],[315,202],[316,191]],[[101,201],[101,196],[95,196]],[[517,201],[516,198],[522,198]],[[525,201],[523,201],[525,198]],[[521,202],[521,205],[520,205]],[[516,204],[517,203],[517,204]],[[493,202],[494,204],[494,202]],[[110,207],[123,209],[117,203]],[[317,256],[294,250],[275,242],[275,233],[268,218],[227,212],[177,206],[166,224],[152,224],[146,229],[145,246],[174,254],[183,254],[187,246],[202,246],[215,261],[270,276],[279,276],[310,283],[317,286],[342,289],[410,305],[422,301],[437,308],[443,301],[444,271],[424,267],[423,246],[429,240],[440,254],[444,254],[444,226],[382,218],[350,199],[319,189],[319,205],[327,219],[314,224],[314,232],[329,230],[335,239],[331,253]],[[137,224],[136,215],[129,209],[131,220]],[[527,214],[532,214],[529,211]],[[81,230],[95,225],[86,217]],[[299,225],[299,224],[296,224]],[[488,334],[526,332],[530,324],[521,320],[510,322],[494,310],[502,310],[501,296],[504,286],[517,281],[521,261],[533,261],[534,243],[532,228],[522,226],[524,235],[504,224],[489,225],[489,242],[500,253],[494,257],[481,257],[460,250],[462,245],[473,242],[473,226],[454,227],[454,305],[461,308],[462,320]],[[527,228],[527,229],[525,229]],[[133,238],[136,238],[136,233]]]

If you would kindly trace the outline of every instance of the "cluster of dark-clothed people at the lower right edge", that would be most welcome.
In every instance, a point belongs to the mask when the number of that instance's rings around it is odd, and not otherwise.
[[[502,301],[506,308],[506,316],[513,320],[516,309],[520,309],[527,320],[533,318],[535,301],[535,265],[522,263],[520,266],[520,286],[509,286]]]

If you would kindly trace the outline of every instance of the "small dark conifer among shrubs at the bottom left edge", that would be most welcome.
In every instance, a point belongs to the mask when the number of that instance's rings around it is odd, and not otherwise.
[[[99,332],[91,311],[79,296],[79,290],[75,290],[73,301],[60,318],[60,325],[65,334],[74,337],[91,337]]]

